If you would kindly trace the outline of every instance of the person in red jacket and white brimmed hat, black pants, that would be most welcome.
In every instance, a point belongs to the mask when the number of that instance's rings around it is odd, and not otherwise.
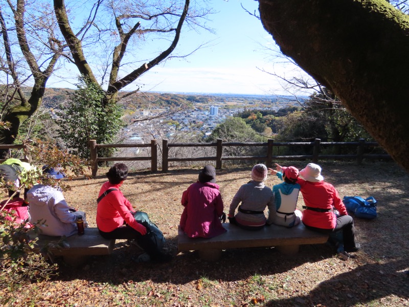
[[[281,171],[281,166],[276,166],[276,170]],[[328,234],[342,230],[345,251],[357,251],[360,245],[355,242],[354,220],[348,215],[335,187],[324,182],[321,167],[309,163],[300,171],[300,176],[304,178],[297,180],[305,203],[303,224],[309,229]],[[338,214],[334,212],[334,208]]]

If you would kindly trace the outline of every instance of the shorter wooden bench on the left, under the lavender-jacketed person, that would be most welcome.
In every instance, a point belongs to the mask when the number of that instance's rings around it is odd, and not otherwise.
[[[30,234],[34,238],[35,234]],[[49,243],[57,243],[60,237],[38,235],[36,242],[37,251]],[[79,266],[83,264],[89,256],[109,255],[115,246],[115,239],[104,239],[98,228],[85,228],[83,235],[74,234],[64,240],[64,247],[50,247],[48,250],[54,256],[62,256],[66,264]]]

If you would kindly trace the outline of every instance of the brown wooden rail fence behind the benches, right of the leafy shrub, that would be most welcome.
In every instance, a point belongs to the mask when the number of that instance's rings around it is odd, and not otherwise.
[[[258,146],[266,147],[266,156],[223,156],[223,147],[239,147],[239,146]],[[303,146],[312,147],[312,155],[300,155],[300,156],[273,156],[273,148],[277,146]],[[320,155],[322,146],[350,146],[356,147],[355,155]],[[168,140],[162,141],[162,171],[167,172],[169,168],[169,162],[185,162],[185,161],[216,161],[216,169],[222,168],[223,161],[232,160],[257,160],[264,161],[267,167],[272,166],[272,161],[277,160],[310,160],[317,163],[319,159],[354,159],[358,164],[363,159],[391,159],[389,155],[365,155],[366,147],[378,147],[376,142],[366,142],[364,139],[360,139],[358,142],[321,142],[320,139],[315,139],[314,142],[274,142],[274,140],[268,140],[264,143],[240,143],[240,142],[226,142],[223,143],[221,139],[218,139],[214,143],[169,143]],[[151,157],[111,157],[111,158],[99,158],[97,156],[97,148],[110,147],[150,147]],[[195,157],[195,158],[172,158],[169,157],[169,148],[171,147],[213,147],[216,148],[216,156],[211,157]],[[98,162],[100,161],[151,161],[151,170],[157,171],[157,143],[156,140],[152,140],[150,144],[97,144],[95,140],[89,141],[89,148],[91,152],[91,164],[93,176],[96,176],[98,171]]]

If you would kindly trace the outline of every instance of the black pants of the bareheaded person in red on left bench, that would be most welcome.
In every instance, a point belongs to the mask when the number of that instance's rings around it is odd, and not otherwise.
[[[134,230],[128,225],[124,225],[114,229],[110,232],[104,232],[99,230],[101,236],[105,239],[128,239],[136,240],[138,245],[148,253],[152,259],[159,257],[162,252],[157,249],[156,244],[153,243],[149,235],[142,235],[140,232]]]

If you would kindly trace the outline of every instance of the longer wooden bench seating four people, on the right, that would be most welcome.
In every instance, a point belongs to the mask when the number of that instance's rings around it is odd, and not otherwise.
[[[328,239],[328,235],[309,230],[302,223],[292,228],[270,225],[257,231],[244,230],[229,223],[224,223],[223,227],[227,232],[208,239],[190,238],[179,226],[178,250],[197,250],[201,259],[214,261],[220,258],[224,249],[275,246],[281,253],[293,255],[302,244],[323,244]]]

